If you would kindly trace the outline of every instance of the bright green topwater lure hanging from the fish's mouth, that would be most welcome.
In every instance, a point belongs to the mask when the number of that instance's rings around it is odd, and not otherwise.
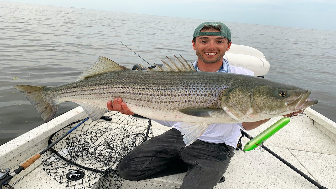
[[[266,128],[264,131],[262,131],[259,135],[254,137],[252,140],[250,140],[248,143],[245,144],[244,146],[244,152],[254,150],[258,146],[260,146],[262,143],[264,143],[267,139],[269,139],[272,135],[277,133],[282,127],[287,125],[290,122],[289,117],[283,117],[270,127]]]

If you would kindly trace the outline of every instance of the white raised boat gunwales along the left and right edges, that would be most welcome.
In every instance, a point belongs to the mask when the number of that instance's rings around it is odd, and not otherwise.
[[[312,125],[321,126],[320,129],[326,136],[335,141],[336,139],[336,123],[329,118],[323,116],[311,108],[307,108],[305,113],[312,120]],[[47,141],[53,133],[74,121],[83,119],[87,116],[85,111],[79,106],[74,108],[48,123],[44,123],[27,133],[16,137],[15,139],[0,146],[0,164],[2,167],[13,168],[27,157],[39,153],[39,150],[46,147]],[[336,142],[336,141],[335,141]],[[33,150],[35,149],[35,150]],[[24,155],[23,155],[24,154]]]

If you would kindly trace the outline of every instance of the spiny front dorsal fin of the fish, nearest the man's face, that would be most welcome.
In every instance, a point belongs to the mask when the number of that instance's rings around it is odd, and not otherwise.
[[[190,64],[183,58],[180,54],[180,57],[176,57],[174,55],[173,58],[166,58],[166,60],[162,61],[164,64],[162,67],[157,64],[155,68],[148,69],[149,71],[166,71],[166,72],[181,72],[181,71],[196,71],[194,66],[190,66]]]

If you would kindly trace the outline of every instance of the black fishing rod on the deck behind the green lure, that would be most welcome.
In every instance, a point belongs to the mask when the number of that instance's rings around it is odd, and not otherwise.
[[[250,139],[251,141],[254,139],[251,135],[247,134],[244,130],[240,129],[241,134],[243,135],[242,137],[240,137],[239,142],[238,142],[238,147],[237,150],[241,150],[242,149],[242,142],[241,139],[243,137],[247,137],[248,139]],[[293,169],[296,173],[298,173],[299,175],[301,175],[303,178],[307,179],[310,183],[312,183],[313,185],[317,186],[319,189],[328,189],[322,185],[320,185],[319,183],[317,183],[316,181],[312,180],[310,177],[308,177],[306,174],[302,173],[299,169],[297,169],[296,167],[294,167],[292,164],[290,164],[289,162],[287,162],[286,160],[284,160],[282,157],[280,157],[278,154],[274,153],[273,151],[271,151],[270,149],[268,149],[266,146],[264,145],[260,145],[260,148],[263,148],[264,150],[266,150],[267,152],[269,152],[270,154],[272,154],[274,157],[276,157],[277,159],[279,159],[281,162],[283,162],[284,164],[286,164],[287,166],[289,166],[291,169]]]

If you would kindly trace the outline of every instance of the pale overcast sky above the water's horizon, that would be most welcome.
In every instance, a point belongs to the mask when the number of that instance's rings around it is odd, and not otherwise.
[[[203,20],[336,31],[336,0],[7,0]]]

